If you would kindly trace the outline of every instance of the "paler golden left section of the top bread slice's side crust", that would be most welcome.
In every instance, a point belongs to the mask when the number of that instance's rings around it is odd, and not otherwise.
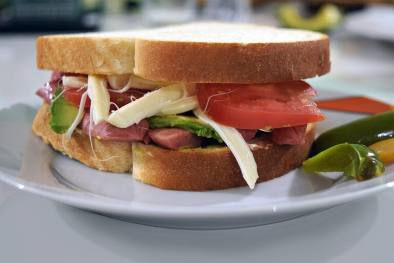
[[[36,43],[37,67],[84,74],[133,72],[134,39],[41,36]]]

